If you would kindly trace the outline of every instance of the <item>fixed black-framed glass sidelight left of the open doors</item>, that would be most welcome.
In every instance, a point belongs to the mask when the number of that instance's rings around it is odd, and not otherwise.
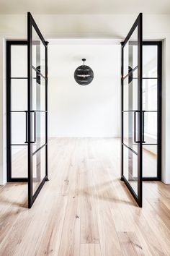
[[[6,41],[7,182],[27,182],[27,41]]]

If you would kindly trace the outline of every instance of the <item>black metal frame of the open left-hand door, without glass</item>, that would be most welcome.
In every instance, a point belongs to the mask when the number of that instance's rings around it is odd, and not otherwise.
[[[32,27],[35,29],[35,32],[39,36],[41,42],[45,46],[45,77],[40,73],[40,71],[36,68],[35,71],[37,74],[42,76],[45,79],[45,145],[38,148],[41,150],[45,147],[45,177],[42,179],[39,187],[37,188],[34,195],[32,195],[32,156],[35,153],[32,153],[32,112],[36,112],[32,110]],[[27,13],[27,73],[28,73],[28,114],[27,114],[27,141],[28,141],[28,208],[32,207],[32,204],[35,202],[37,195],[40,193],[43,185],[46,181],[48,181],[48,42],[43,38],[39,28],[37,27],[35,20],[32,17],[30,12]]]

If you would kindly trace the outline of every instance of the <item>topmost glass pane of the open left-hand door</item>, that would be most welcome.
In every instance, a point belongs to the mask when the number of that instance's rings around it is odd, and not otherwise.
[[[32,66],[45,76],[45,46],[32,27]]]

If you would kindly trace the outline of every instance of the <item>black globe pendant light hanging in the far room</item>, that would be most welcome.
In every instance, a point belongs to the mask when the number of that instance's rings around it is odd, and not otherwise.
[[[86,59],[82,59],[82,61],[86,61]],[[79,85],[89,85],[94,79],[94,72],[89,66],[83,64],[75,70],[74,79]]]

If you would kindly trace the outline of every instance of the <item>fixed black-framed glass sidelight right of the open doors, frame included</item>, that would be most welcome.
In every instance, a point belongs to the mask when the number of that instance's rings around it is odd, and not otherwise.
[[[143,42],[143,179],[161,180],[161,42]]]

